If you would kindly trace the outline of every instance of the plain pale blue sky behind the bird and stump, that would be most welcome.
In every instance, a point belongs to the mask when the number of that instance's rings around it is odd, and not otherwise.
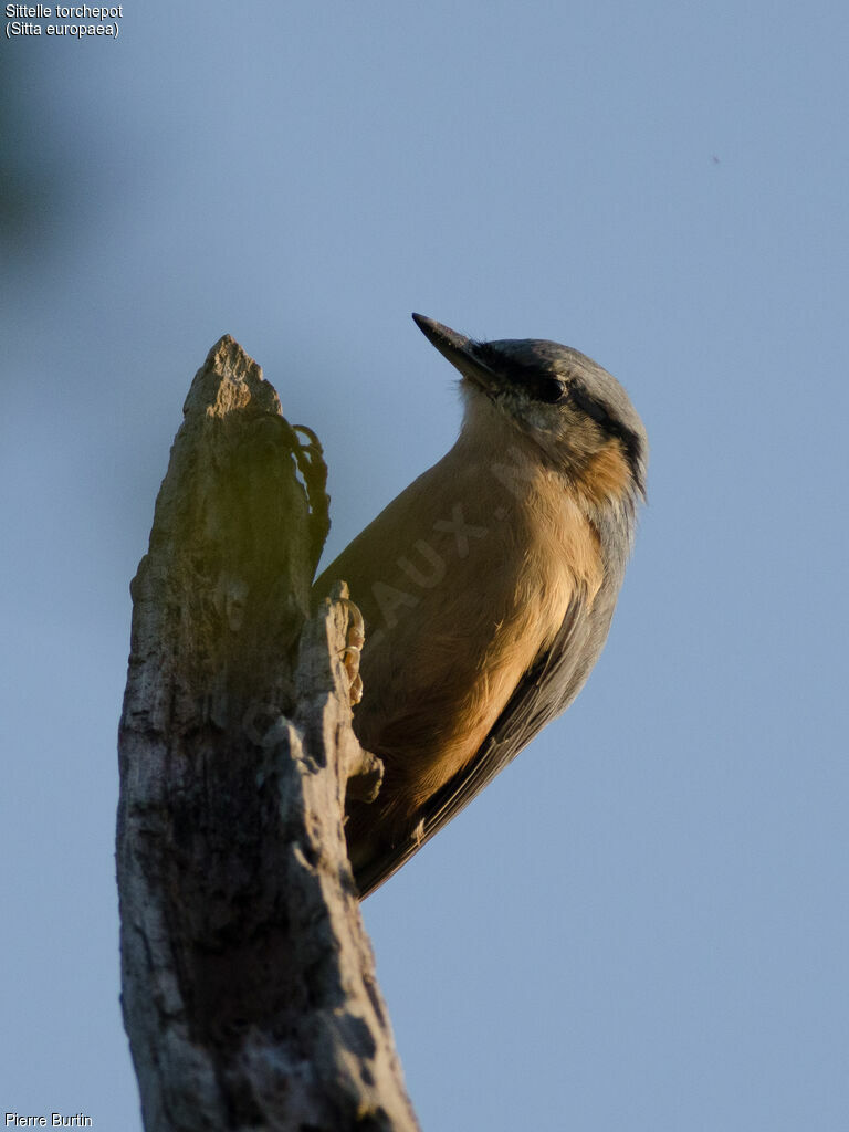
[[[846,6],[123,7],[0,49],[0,1107],[140,1127],[115,729],[195,370],[316,429],[329,556],[456,435],[420,310],[652,443],[589,685],[365,904],[423,1127],[844,1127]]]

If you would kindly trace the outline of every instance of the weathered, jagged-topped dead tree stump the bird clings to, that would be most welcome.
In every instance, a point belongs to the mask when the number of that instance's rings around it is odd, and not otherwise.
[[[191,385],[132,583],[122,1006],[147,1132],[418,1127],[343,832],[344,592],[325,466],[230,337]]]

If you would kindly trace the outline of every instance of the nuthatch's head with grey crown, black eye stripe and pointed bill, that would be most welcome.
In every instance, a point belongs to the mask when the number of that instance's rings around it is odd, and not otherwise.
[[[491,428],[495,413],[598,503],[645,496],[645,428],[621,385],[591,358],[540,338],[475,342],[423,315],[413,319],[462,375],[466,428]]]

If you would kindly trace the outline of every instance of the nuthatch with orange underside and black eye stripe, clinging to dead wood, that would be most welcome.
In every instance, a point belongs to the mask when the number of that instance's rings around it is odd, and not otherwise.
[[[345,581],[365,623],[353,727],[384,779],[345,807],[360,899],[573,702],[646,497],[645,428],[601,366],[412,317],[460,372],[457,440],[314,586]]]

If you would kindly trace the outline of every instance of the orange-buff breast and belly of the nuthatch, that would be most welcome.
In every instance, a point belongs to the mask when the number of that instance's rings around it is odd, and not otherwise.
[[[386,766],[378,806],[400,824],[475,755],[576,588],[591,601],[602,581],[597,538],[561,478],[534,473],[516,496],[494,488],[488,468],[470,483],[471,471],[457,471],[460,514],[419,514],[427,540],[384,558],[368,583],[350,580],[367,621],[355,726]],[[379,528],[369,529],[375,546]]]

